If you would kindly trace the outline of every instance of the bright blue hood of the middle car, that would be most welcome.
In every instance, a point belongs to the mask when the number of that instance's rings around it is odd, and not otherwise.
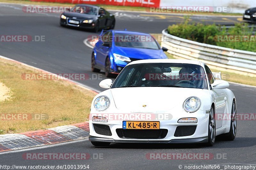
[[[114,53],[134,59],[166,59],[163,50],[145,49],[145,48],[127,48],[115,47]]]

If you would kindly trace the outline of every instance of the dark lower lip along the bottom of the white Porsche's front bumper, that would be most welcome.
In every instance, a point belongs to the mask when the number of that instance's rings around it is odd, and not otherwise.
[[[102,138],[89,136],[89,141],[92,142],[110,142],[110,143],[172,143],[172,144],[190,144],[190,143],[206,143],[208,136],[200,138],[185,138],[185,139],[171,139],[171,140],[115,140],[113,138]]]

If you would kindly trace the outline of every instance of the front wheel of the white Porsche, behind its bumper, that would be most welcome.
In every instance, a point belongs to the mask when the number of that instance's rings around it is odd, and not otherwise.
[[[208,142],[206,146],[213,146],[216,140],[216,121],[215,121],[215,112],[213,107],[211,107],[209,114],[209,123],[208,123]]]

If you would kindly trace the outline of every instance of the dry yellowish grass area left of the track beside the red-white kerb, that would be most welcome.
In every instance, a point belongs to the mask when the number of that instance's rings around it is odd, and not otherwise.
[[[0,114],[44,114],[42,120],[0,120],[0,134],[52,128],[88,120],[94,93],[61,80],[23,80],[23,73],[40,73],[0,59],[0,82],[11,98],[0,102]]]

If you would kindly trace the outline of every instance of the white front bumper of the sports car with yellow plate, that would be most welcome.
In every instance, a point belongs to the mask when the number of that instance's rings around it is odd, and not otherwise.
[[[90,140],[91,141],[98,141],[98,142],[114,142],[114,143],[203,143],[208,142],[208,122],[209,122],[209,114],[207,114],[203,110],[198,110],[194,113],[187,113],[187,112],[179,112],[179,114],[172,114],[172,117],[169,120],[159,120],[160,121],[160,129],[167,131],[163,138],[137,138],[137,137],[128,137],[129,135],[120,136],[117,130],[123,128],[123,120],[109,120],[108,122],[92,122],[89,120],[89,127],[90,127]],[[91,113],[92,114],[92,113]],[[99,115],[98,115],[99,116]],[[104,117],[104,116],[103,116]],[[197,123],[178,123],[180,118],[186,117],[196,117]],[[129,121],[129,120],[125,120]],[[134,120],[130,120],[134,121]],[[142,120],[140,120],[142,121]],[[157,121],[155,120],[148,120],[148,121]],[[95,131],[95,124],[98,125],[107,125],[109,126],[109,130],[111,133],[110,135],[104,135],[101,133],[97,133]],[[193,133],[189,135],[175,135],[177,131],[177,127],[180,126],[191,126],[188,127],[191,130],[192,126],[196,126],[196,129]],[[186,129],[186,128],[185,128]],[[147,130],[145,130],[147,131]],[[186,131],[186,130],[185,130]],[[130,133],[130,132],[127,132]],[[154,132],[152,132],[154,133]],[[147,133],[148,134],[148,133]],[[151,132],[150,132],[151,134]],[[146,133],[143,134],[147,136]]]

